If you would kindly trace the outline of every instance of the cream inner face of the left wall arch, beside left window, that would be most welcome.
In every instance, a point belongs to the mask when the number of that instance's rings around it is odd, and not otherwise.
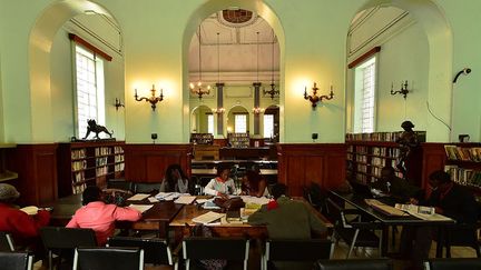
[[[94,11],[115,18],[104,7],[89,0],[63,0],[47,7],[37,18],[29,39],[30,121],[32,141],[51,141],[53,138],[50,51],[57,31],[70,18]],[[116,20],[115,20],[116,21]],[[41,116],[41,117],[40,117]]]

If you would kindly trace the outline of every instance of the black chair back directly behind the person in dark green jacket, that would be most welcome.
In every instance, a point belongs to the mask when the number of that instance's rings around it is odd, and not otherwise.
[[[334,242],[328,239],[269,239],[266,241],[261,269],[267,270],[269,262],[310,262],[330,259]]]

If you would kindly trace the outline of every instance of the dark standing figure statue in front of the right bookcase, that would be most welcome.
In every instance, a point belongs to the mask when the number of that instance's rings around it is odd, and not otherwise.
[[[413,148],[419,146],[418,134],[412,130],[414,124],[411,121],[404,121],[401,123],[401,128],[404,131],[397,138],[396,142],[400,144],[400,154],[397,159],[396,168],[403,173],[405,178],[406,166],[405,162],[409,159]]]

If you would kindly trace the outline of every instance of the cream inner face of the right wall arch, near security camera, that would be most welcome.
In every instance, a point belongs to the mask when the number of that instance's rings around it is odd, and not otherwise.
[[[432,0],[369,0],[357,12],[376,6],[393,6],[404,9],[424,29],[430,58],[428,102],[439,118],[451,123],[452,84],[450,78],[452,74],[453,38],[444,11]],[[450,126],[452,127],[452,124]],[[434,118],[428,118],[426,130],[428,141],[450,141],[450,130]]]

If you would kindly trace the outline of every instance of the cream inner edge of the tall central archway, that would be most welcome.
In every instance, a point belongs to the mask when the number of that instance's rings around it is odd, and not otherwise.
[[[200,22],[219,10],[227,9],[229,7],[238,7],[240,9],[251,10],[259,14],[273,29],[275,34],[277,36],[278,44],[279,44],[279,81],[281,81],[281,97],[279,97],[279,108],[283,108],[284,102],[284,48],[285,48],[285,36],[284,30],[281,24],[278,17],[275,14],[273,9],[268,7],[264,1],[243,1],[243,0],[210,0],[206,3],[199,6],[190,16],[187,21],[186,28],[184,30],[183,36],[183,89],[188,89],[188,50],[190,46],[192,37],[194,36],[197,27]],[[183,91],[183,107],[184,107],[184,117],[183,117],[183,134],[185,136],[184,141],[188,141],[187,132],[189,130],[189,92]],[[248,111],[248,110],[247,110]],[[283,111],[281,109],[281,111]],[[284,137],[284,117],[281,113],[281,138]],[[225,121],[225,119],[224,119]],[[226,124],[226,122],[225,122]]]

